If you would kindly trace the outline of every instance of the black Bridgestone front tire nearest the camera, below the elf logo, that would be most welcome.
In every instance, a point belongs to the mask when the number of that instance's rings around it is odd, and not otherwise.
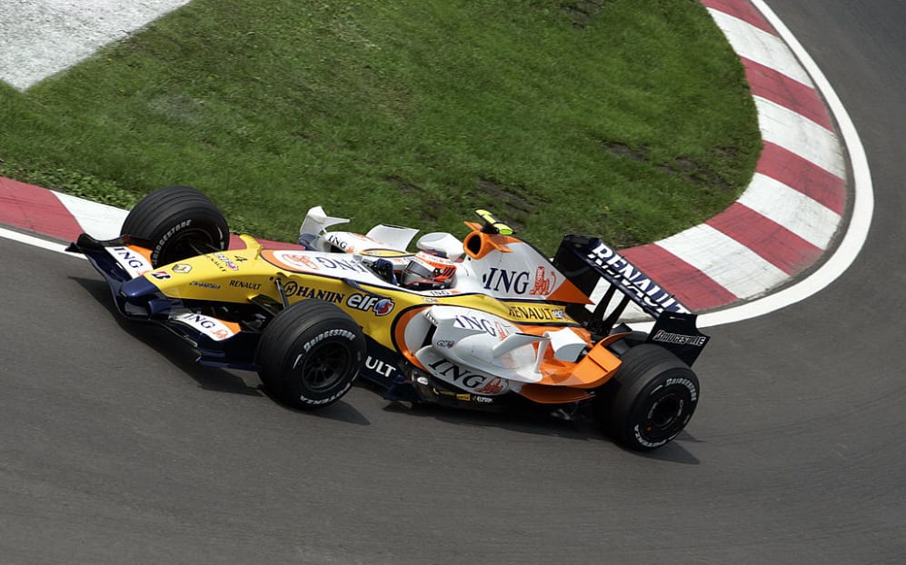
[[[295,302],[265,328],[258,376],[275,400],[301,410],[324,408],[349,391],[365,359],[362,329],[334,304]]]

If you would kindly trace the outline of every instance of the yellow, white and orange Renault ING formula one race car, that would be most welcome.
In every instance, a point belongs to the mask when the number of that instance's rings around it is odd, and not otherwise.
[[[671,441],[692,417],[690,366],[708,337],[689,312],[598,239],[567,235],[553,262],[491,213],[463,241],[411,228],[327,231],[309,210],[299,245],[228,249],[204,194],[169,186],[122,236],[68,250],[104,275],[125,317],[184,338],[205,365],[257,371],[272,397],[327,406],[362,375],[392,401],[590,413],[624,446]],[[592,308],[590,296],[603,294]],[[631,307],[654,318],[632,331]]]

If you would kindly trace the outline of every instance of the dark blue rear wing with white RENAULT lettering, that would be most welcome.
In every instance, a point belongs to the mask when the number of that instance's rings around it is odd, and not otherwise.
[[[710,339],[698,331],[697,314],[600,239],[564,236],[553,264],[588,296],[592,296],[599,282],[607,283],[593,311],[582,304],[566,307],[566,312],[592,332],[595,340],[613,332],[630,302],[655,321],[646,342],[661,345],[688,365]],[[614,305],[617,292],[621,296]]]

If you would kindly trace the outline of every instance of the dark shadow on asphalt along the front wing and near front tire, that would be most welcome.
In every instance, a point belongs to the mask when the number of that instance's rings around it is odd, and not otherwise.
[[[103,304],[107,312],[110,312],[117,325],[119,325],[124,332],[135,340],[143,342],[145,345],[151,347],[167,362],[172,363],[181,372],[192,377],[205,391],[267,397],[275,403],[280,404],[280,402],[274,400],[274,398],[264,390],[264,387],[260,382],[257,382],[257,377],[254,376],[254,373],[244,372],[250,377],[246,380],[234,372],[218,369],[216,367],[199,365],[195,362],[196,353],[192,347],[178,336],[154,323],[126,320],[120,312],[117,312],[113,299],[110,296],[110,288],[105,282],[95,279],[83,279],[80,277],[69,278],[85,288],[97,302]],[[300,411],[282,404],[280,405],[286,410],[304,413],[305,415],[336,421],[345,421],[359,425],[368,425],[370,423],[361,413],[343,401],[338,401],[333,406],[319,411]]]

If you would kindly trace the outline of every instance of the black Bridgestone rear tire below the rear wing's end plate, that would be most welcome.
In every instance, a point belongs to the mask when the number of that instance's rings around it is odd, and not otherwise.
[[[614,440],[634,451],[651,451],[671,441],[692,419],[699,399],[698,377],[671,352],[644,343],[622,356],[622,364],[599,395],[599,417]]]

